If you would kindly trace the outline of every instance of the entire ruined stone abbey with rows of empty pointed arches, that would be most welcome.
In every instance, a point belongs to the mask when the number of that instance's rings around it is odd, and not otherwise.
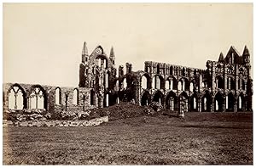
[[[144,70],[132,64],[115,66],[115,53],[97,46],[88,53],[86,42],[79,65],[79,87],[53,87],[20,83],[3,84],[3,112],[41,109],[55,114],[108,107],[120,102],[146,106],[159,102],[173,111],[251,111],[253,80],[250,53],[231,47],[206,69],[146,61]]]

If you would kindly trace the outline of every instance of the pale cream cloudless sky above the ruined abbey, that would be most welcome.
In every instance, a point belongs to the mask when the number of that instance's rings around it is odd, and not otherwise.
[[[253,3],[4,3],[3,82],[78,87],[83,43],[113,46],[116,67],[206,69],[230,46],[253,64]]]

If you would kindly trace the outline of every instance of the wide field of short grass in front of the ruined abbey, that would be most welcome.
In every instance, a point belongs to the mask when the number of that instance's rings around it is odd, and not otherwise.
[[[91,127],[4,127],[3,165],[252,165],[252,113],[139,116]]]

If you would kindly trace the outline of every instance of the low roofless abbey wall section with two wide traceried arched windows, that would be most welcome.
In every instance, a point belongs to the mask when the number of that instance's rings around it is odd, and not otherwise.
[[[7,110],[27,109],[32,111],[41,109],[55,115],[61,113],[61,111],[80,111],[94,107],[89,102],[90,89],[82,87],[52,87],[6,83],[3,85],[3,91],[3,112]],[[12,92],[15,92],[14,97],[10,96]],[[77,95],[76,98],[74,98],[75,94]],[[9,98],[12,99],[9,100]],[[19,101],[21,102],[20,104],[18,103]]]

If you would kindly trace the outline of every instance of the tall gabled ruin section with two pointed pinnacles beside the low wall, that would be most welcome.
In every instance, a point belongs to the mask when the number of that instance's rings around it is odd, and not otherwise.
[[[113,47],[109,57],[102,46],[97,46],[90,55],[84,42],[82,62],[79,68],[79,87],[91,89],[92,98],[97,98],[99,107],[108,106],[108,94],[116,87],[116,68]],[[92,100],[91,102],[95,102]]]

